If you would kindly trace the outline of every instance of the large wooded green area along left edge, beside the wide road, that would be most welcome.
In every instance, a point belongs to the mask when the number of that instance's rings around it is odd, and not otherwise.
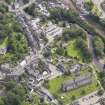
[[[0,12],[3,16],[0,16],[0,43],[4,43],[3,46],[7,48],[5,56],[0,58],[0,64],[16,64],[28,52],[28,42],[20,24],[4,4],[0,4]]]

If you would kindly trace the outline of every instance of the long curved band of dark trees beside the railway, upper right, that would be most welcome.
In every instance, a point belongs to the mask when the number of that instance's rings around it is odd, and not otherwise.
[[[68,23],[76,23],[80,27],[82,27],[85,31],[90,34],[97,34],[95,29],[91,27],[86,21],[83,21],[78,14],[73,11],[62,9],[62,8],[54,8],[50,9],[50,19],[55,21],[67,21]]]

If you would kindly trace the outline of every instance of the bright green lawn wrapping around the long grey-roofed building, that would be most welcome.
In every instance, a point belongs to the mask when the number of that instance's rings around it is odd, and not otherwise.
[[[97,81],[93,78],[93,82],[89,85],[80,87],[78,89],[74,89],[72,91],[63,93],[60,90],[61,84],[66,81],[66,80],[70,80],[71,77],[70,76],[61,76],[58,78],[55,78],[51,81],[49,81],[49,91],[60,101],[63,103],[63,105],[67,105],[68,103],[70,103],[72,101],[72,96],[75,96],[75,99],[78,99],[82,96],[85,96],[95,90],[97,90],[99,88],[99,86],[97,86]],[[84,94],[82,93],[83,91]]]

